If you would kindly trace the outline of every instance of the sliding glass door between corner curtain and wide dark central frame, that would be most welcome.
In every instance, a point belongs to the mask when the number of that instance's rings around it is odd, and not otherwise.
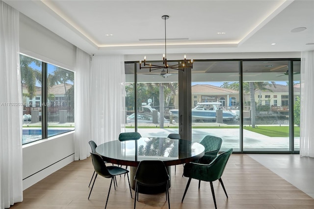
[[[167,137],[169,133],[178,133],[177,114],[170,111],[176,108],[178,71],[149,72],[149,69],[139,69],[138,63],[127,63],[126,72],[127,131],[134,130],[136,124],[142,136]]]

